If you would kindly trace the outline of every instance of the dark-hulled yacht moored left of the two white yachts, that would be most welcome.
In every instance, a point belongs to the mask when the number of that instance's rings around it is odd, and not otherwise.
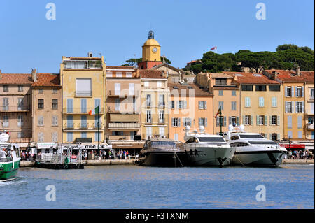
[[[164,137],[149,137],[139,152],[137,164],[141,166],[183,167],[186,154],[174,140]]]

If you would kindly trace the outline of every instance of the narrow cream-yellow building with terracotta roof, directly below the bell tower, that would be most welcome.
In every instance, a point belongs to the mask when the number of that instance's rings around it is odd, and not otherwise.
[[[141,77],[141,133],[148,136],[169,137],[169,87],[165,73],[139,70]]]

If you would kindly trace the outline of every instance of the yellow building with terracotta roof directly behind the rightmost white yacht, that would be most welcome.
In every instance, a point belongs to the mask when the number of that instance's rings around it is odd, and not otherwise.
[[[273,141],[283,138],[283,87],[262,73],[226,72],[239,84],[241,123],[245,131]]]

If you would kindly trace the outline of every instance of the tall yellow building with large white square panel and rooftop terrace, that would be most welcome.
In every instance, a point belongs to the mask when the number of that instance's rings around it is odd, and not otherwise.
[[[92,57],[90,53],[88,57],[62,57],[63,143],[104,141],[105,78],[104,57]],[[99,118],[89,115],[96,107],[99,107]]]

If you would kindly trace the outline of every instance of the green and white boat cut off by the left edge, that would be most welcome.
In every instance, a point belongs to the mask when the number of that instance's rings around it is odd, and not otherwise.
[[[10,136],[0,134],[0,180],[14,180],[20,166],[19,146],[8,143]]]

